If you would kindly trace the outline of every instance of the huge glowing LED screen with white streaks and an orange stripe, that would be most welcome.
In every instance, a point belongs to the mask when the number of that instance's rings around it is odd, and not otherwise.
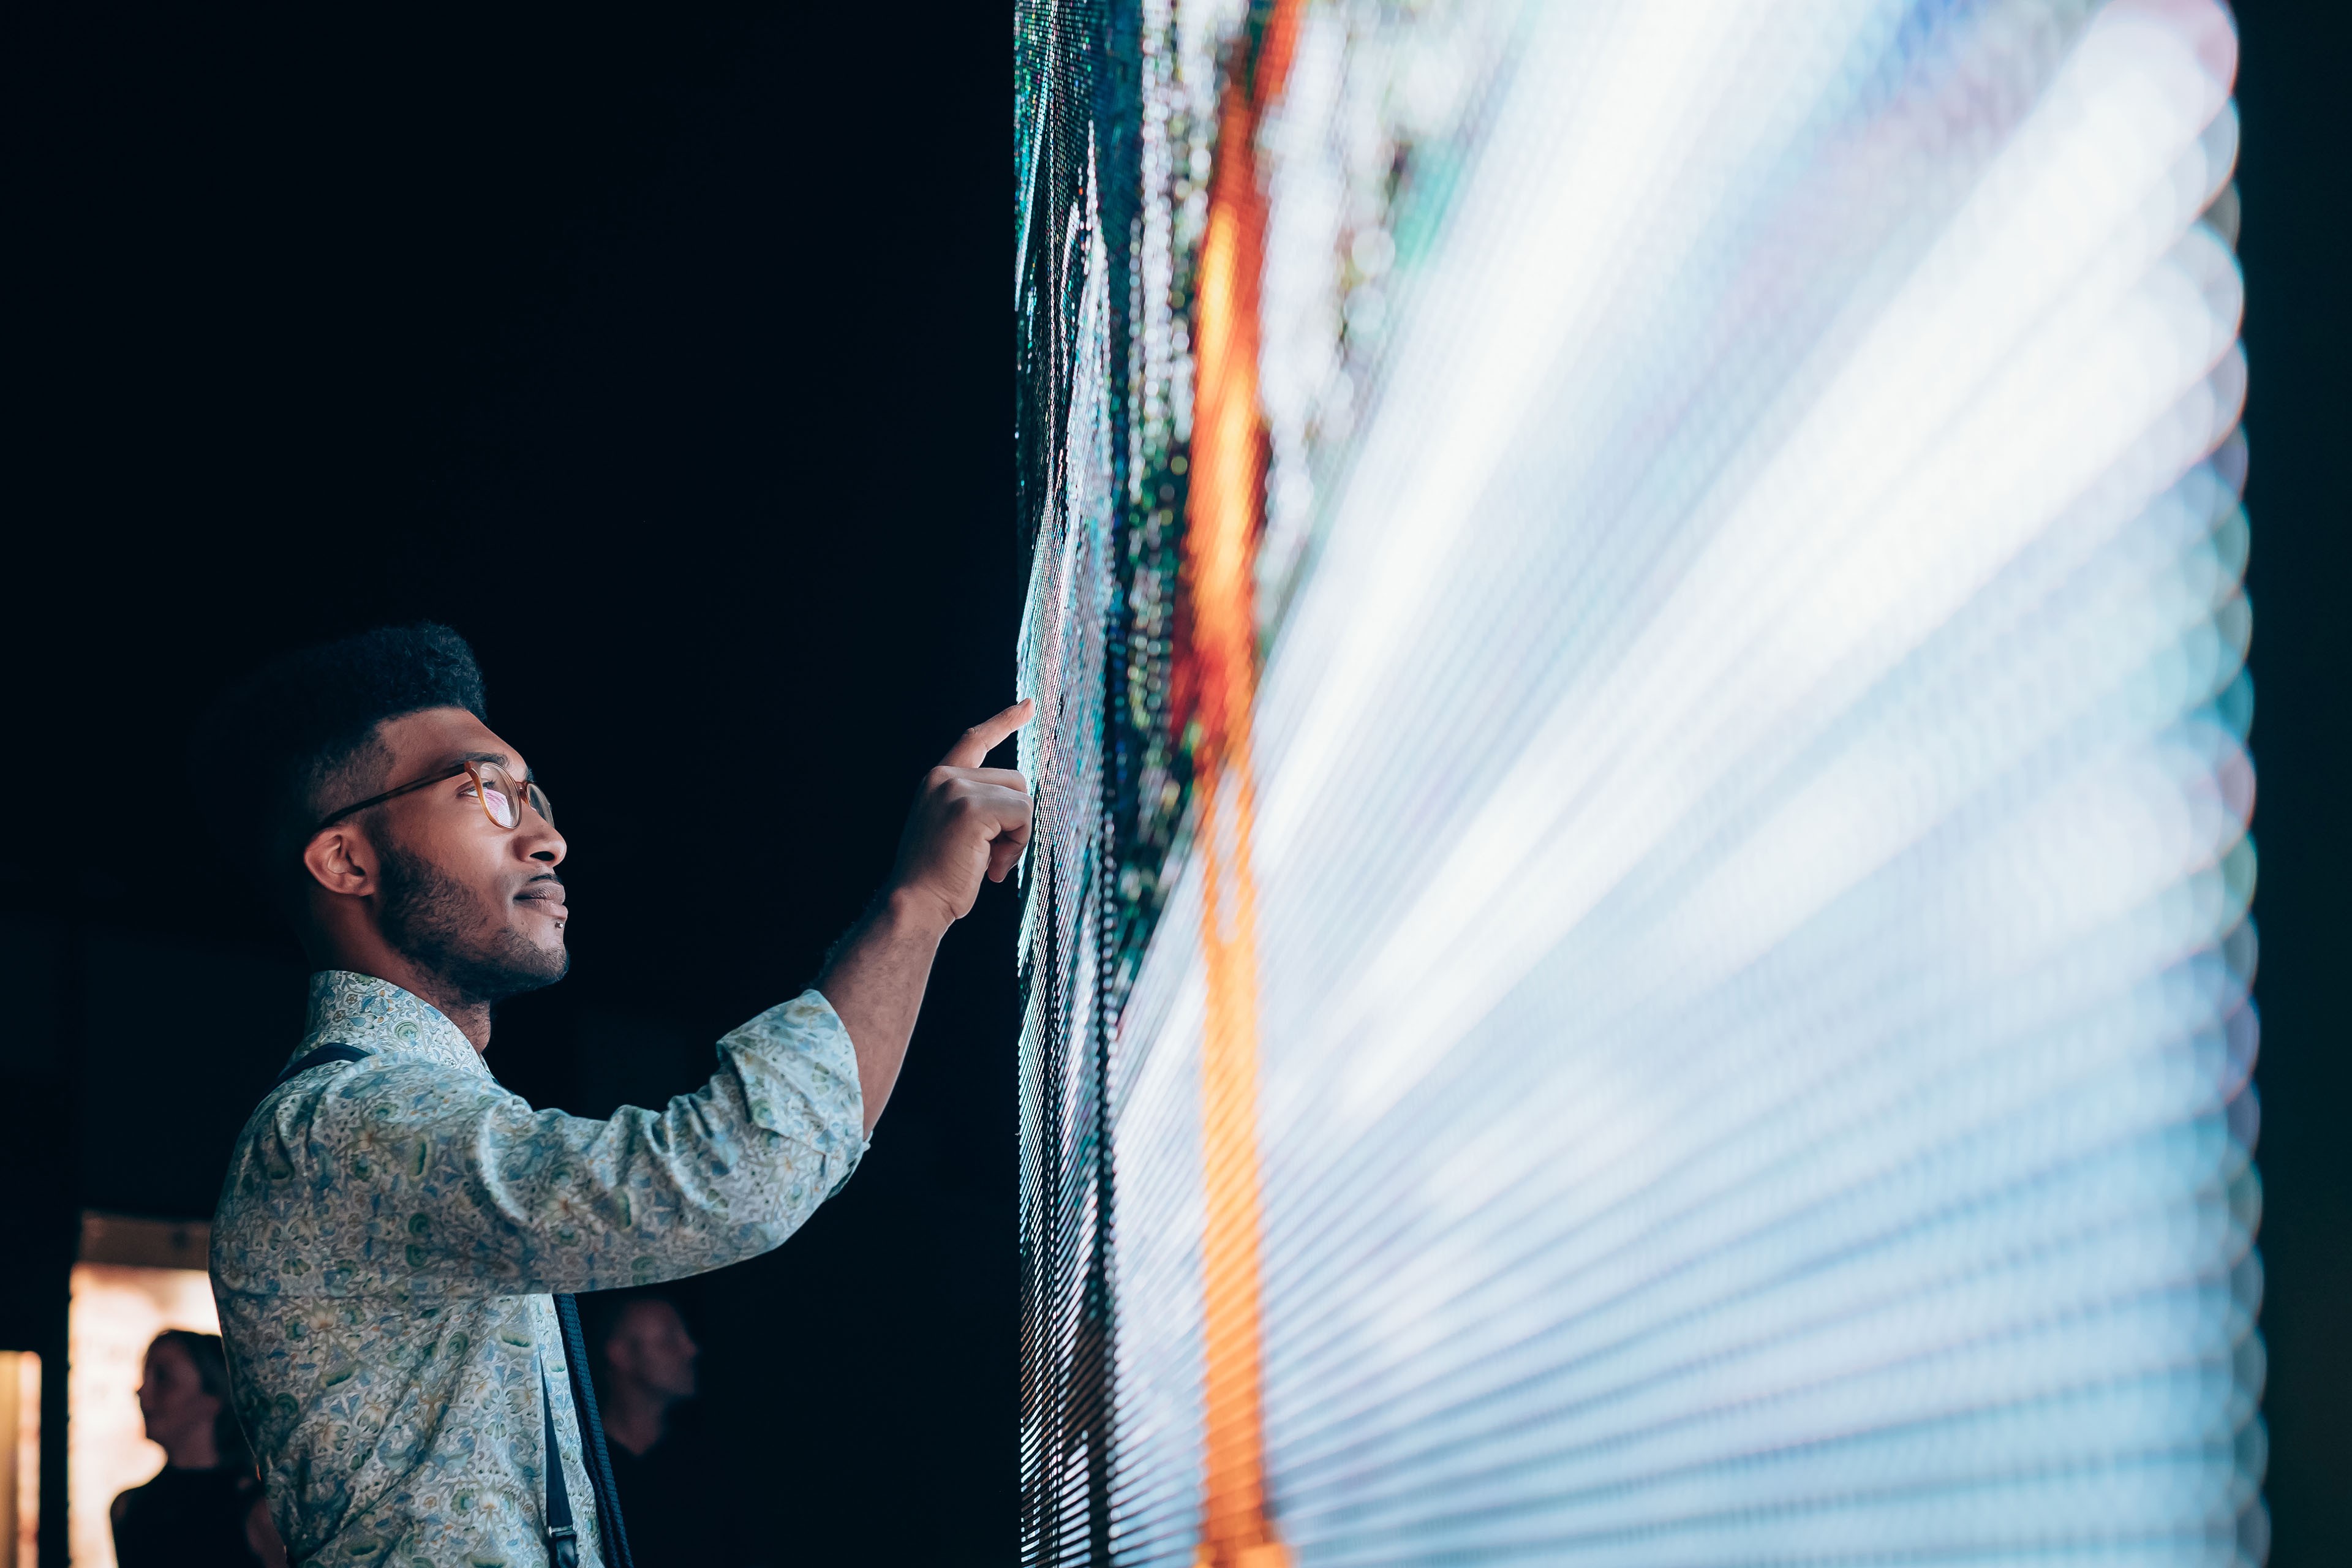
[[[2232,71],[1021,9],[1025,1561],[2263,1559]]]

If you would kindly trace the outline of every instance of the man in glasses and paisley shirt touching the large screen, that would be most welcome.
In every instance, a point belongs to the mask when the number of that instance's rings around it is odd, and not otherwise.
[[[466,642],[419,625],[282,658],[198,736],[223,842],[318,971],[303,1070],[240,1133],[212,1232],[238,1413],[296,1563],[612,1568],[550,1293],[715,1269],[807,1220],[866,1150],[941,936],[1030,832],[1021,776],[981,766],[1023,703],[931,769],[868,914],[811,990],[720,1041],[701,1091],[534,1112],[482,1051],[492,1004],[564,973],[567,846],[485,712]],[[741,827],[741,790],[666,741],[680,757],[642,764],[656,809]]]

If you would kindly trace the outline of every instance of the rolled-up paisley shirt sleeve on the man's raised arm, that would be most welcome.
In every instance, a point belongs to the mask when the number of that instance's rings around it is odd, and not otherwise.
[[[699,1091],[593,1121],[388,1053],[285,1105],[233,1180],[280,1187],[280,1220],[315,1229],[306,1284],[327,1295],[612,1291],[717,1269],[779,1246],[866,1152],[856,1053],[823,994],[760,1013],[717,1056]]]

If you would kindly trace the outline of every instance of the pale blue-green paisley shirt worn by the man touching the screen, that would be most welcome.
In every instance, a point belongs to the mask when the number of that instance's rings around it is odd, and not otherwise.
[[[722,1039],[699,1091],[612,1121],[534,1112],[440,1011],[369,976],[310,978],[294,1056],[327,1041],[372,1056],[261,1103],[212,1227],[238,1415],[287,1554],[546,1563],[546,1378],[581,1563],[602,1566],[548,1293],[699,1274],[793,1234],[866,1152],[849,1032],[802,992]]]

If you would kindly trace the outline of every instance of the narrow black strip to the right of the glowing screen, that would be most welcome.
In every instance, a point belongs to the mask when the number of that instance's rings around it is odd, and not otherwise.
[[[2239,7],[2246,510],[2263,853],[2263,1260],[2272,1561],[2352,1561],[2352,550],[2345,92],[2333,5]]]

